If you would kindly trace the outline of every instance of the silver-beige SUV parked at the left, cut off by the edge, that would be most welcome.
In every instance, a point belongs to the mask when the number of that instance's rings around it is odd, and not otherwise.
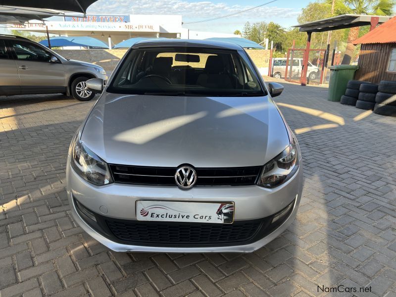
[[[0,96],[62,93],[80,101],[95,94],[85,82],[106,80],[98,65],[68,60],[23,37],[0,35]]]

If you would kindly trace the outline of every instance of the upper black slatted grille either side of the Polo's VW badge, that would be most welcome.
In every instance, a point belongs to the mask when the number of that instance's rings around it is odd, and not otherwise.
[[[145,167],[110,164],[116,183],[136,185],[176,186],[176,167]],[[262,166],[230,168],[195,168],[195,186],[254,185]]]

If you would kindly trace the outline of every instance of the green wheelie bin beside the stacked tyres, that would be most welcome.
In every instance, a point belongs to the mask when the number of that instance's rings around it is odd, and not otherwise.
[[[345,95],[347,83],[353,79],[357,65],[338,65],[330,67],[329,92],[327,100],[340,101],[341,96]]]

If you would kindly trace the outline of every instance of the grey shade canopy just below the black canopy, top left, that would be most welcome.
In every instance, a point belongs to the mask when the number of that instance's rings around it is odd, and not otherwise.
[[[30,20],[43,20],[51,16],[63,16],[62,11],[44,8],[0,6],[0,23],[15,24]]]

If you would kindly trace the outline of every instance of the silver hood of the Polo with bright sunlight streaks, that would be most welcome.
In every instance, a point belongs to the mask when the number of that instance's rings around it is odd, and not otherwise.
[[[172,97],[103,92],[81,140],[111,164],[177,167],[263,165],[289,145],[264,97]]]

